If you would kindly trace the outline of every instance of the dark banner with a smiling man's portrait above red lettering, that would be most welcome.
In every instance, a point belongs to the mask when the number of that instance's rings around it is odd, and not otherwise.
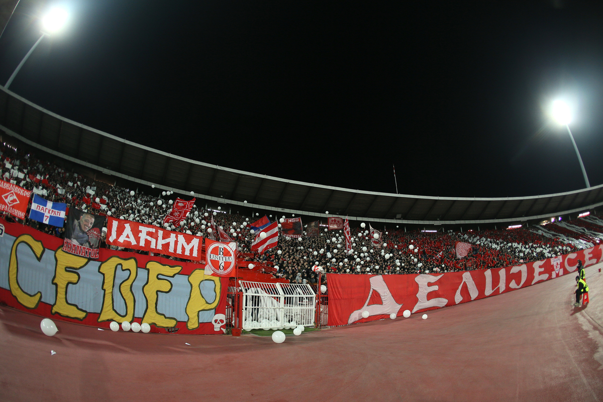
[[[104,222],[103,216],[70,208],[65,227],[63,251],[74,254],[74,256],[98,259]]]

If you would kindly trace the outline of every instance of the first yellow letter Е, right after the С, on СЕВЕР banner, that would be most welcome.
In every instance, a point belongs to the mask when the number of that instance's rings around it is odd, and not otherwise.
[[[80,269],[88,263],[84,257],[74,256],[65,253],[62,249],[57,249],[54,253],[54,259],[57,265],[54,270],[52,283],[57,285],[57,301],[52,306],[52,314],[60,314],[64,317],[84,319],[88,314],[84,310],[78,309],[74,304],[67,303],[67,286],[70,283],[78,283],[80,274],[67,271],[67,268]]]

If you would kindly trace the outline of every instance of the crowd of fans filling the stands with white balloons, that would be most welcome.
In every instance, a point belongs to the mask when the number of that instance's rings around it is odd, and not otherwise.
[[[162,192],[160,195],[137,192],[131,195],[131,189],[112,186],[77,172],[66,171],[54,163],[37,159],[33,154],[19,152],[8,145],[4,145],[1,152],[2,180],[33,190],[49,201],[67,203],[69,208],[75,207],[101,216],[109,215],[163,226],[163,218],[175,199],[175,195],[169,192]],[[271,221],[280,218],[270,213],[267,215]],[[349,274],[450,272],[500,268],[567,254],[577,248],[583,248],[581,243],[567,240],[567,233],[564,236],[547,237],[540,231],[529,228],[464,233],[407,232],[398,227],[384,228],[379,241],[374,244],[375,239],[370,236],[367,228],[361,227],[360,222],[352,222],[352,251],[349,253],[346,252],[343,230],[321,231],[318,236],[303,236],[301,241],[280,236],[276,248],[271,248],[265,254],[251,253],[251,242],[255,233],[250,224],[261,216],[263,214],[259,212],[253,216],[244,216],[239,213],[226,213],[221,207],[207,209],[195,205],[181,225],[168,225],[168,228],[197,236],[208,236],[207,228],[213,217],[215,224],[236,240],[239,253],[245,260],[254,263],[258,268],[274,272],[277,277],[295,283],[315,283],[317,273],[312,270],[315,266],[320,266],[329,273]],[[62,228],[29,219],[26,219],[25,223],[54,236],[63,236]],[[590,238],[594,241],[603,239],[603,221],[598,218],[576,219],[575,224],[589,230]],[[457,242],[472,245],[466,257],[456,257]]]

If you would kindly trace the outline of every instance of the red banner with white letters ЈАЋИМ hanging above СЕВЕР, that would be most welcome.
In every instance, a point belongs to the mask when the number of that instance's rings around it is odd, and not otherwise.
[[[153,225],[108,217],[107,244],[153,251],[186,260],[201,260],[203,237],[165,230]]]

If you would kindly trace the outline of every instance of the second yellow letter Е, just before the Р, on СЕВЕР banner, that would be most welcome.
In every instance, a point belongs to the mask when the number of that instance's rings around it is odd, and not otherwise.
[[[142,317],[142,322],[155,324],[157,327],[174,327],[178,321],[175,318],[167,318],[165,315],[157,312],[157,292],[167,293],[172,289],[172,283],[165,279],[157,278],[157,275],[173,277],[182,271],[182,266],[163,265],[155,261],[149,261],[145,269],[149,271],[149,278],[142,292],[147,298],[147,311]]]

